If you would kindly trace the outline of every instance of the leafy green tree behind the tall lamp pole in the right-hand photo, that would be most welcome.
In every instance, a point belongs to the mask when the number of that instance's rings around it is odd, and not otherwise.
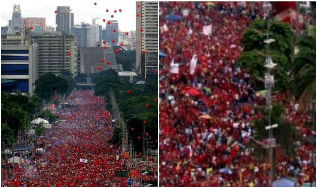
[[[264,90],[266,33],[266,23],[258,19],[245,31],[241,40],[244,48],[238,63],[243,69],[249,70],[257,90]],[[289,24],[271,20],[269,21],[269,38],[276,40],[269,46],[272,60],[277,63],[272,72],[275,78],[275,89],[286,90],[289,85],[288,72],[294,52],[294,33]]]

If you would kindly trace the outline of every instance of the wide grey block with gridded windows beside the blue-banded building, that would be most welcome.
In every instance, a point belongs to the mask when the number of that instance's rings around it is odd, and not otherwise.
[[[60,76],[61,70],[77,74],[77,41],[74,35],[32,32],[32,39],[38,44],[38,76],[46,73]]]

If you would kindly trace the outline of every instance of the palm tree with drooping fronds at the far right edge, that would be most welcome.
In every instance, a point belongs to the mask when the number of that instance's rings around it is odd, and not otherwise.
[[[291,93],[303,106],[316,103],[316,37],[303,35],[292,63]]]

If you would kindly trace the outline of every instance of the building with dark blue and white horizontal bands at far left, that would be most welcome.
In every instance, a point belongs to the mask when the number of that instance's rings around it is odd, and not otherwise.
[[[1,35],[1,91],[33,94],[37,79],[37,44],[31,45],[31,29]]]

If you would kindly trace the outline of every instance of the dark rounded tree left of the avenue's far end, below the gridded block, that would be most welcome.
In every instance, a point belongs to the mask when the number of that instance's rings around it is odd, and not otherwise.
[[[65,94],[68,87],[67,80],[52,73],[42,75],[35,81],[35,93],[43,99],[49,99],[53,94]]]

